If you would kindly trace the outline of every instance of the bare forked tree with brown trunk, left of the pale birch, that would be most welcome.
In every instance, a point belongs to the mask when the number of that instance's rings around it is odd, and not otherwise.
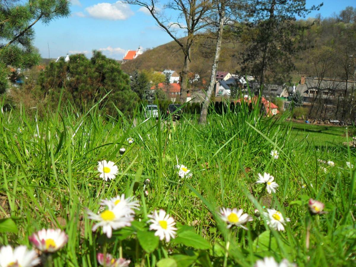
[[[166,31],[183,51],[184,65],[180,72],[180,103],[185,103],[189,83],[188,73],[192,60],[190,57],[192,45],[199,31],[209,24],[209,12],[213,1],[171,0],[164,5],[161,5],[158,0],[124,0],[123,2],[145,7],[156,20],[158,26]],[[172,21],[172,18],[164,13],[165,10],[171,10],[178,15]],[[187,36],[179,38],[177,28],[185,30]]]

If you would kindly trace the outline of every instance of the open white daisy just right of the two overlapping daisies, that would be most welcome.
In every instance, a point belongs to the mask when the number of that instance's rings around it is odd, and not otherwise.
[[[176,237],[177,228],[173,227],[176,223],[172,217],[169,217],[169,214],[166,214],[166,211],[161,209],[159,210],[159,213],[157,213],[157,210],[155,210],[147,217],[151,218],[151,220],[148,221],[149,223],[152,223],[150,225],[150,230],[156,230],[155,236],[159,236],[160,240],[166,238],[166,242],[169,242],[171,237],[173,239]]]

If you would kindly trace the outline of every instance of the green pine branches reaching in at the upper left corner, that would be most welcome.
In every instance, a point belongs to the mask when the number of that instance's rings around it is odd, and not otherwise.
[[[0,93],[7,88],[11,68],[28,68],[40,60],[32,45],[33,25],[68,16],[69,4],[68,0],[0,0]]]

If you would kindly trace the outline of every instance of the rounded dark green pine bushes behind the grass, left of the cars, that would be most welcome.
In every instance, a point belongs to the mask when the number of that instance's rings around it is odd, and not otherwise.
[[[100,51],[94,51],[91,59],[84,54],[74,54],[68,62],[63,58],[51,62],[41,73],[38,83],[45,95],[58,94],[64,88],[68,98],[82,110],[97,103],[109,91],[108,100],[99,105],[107,114],[116,114],[114,105],[130,113],[137,102],[137,95],[130,88],[129,75],[122,72],[120,63]]]

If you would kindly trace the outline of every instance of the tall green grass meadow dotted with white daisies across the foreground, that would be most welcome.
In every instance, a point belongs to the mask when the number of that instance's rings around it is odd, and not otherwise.
[[[246,106],[204,126],[119,114],[1,112],[0,247],[25,245],[44,266],[356,265],[354,148],[295,138],[287,113]],[[107,180],[104,160],[117,166]],[[41,229],[66,240],[41,249]]]

